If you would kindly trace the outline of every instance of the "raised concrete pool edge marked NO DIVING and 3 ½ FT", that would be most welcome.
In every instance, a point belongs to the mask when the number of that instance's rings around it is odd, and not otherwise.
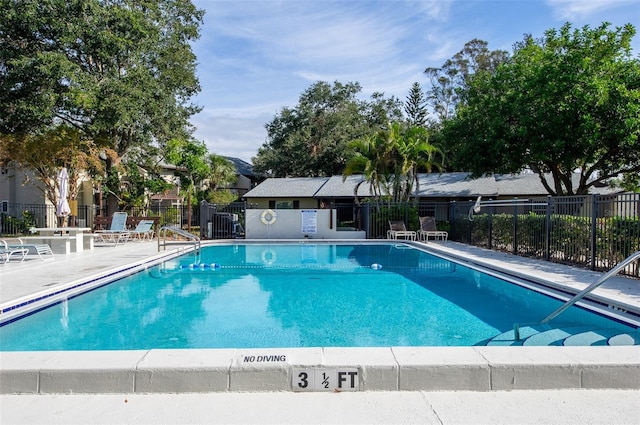
[[[0,394],[596,388],[640,389],[640,346],[0,352]]]

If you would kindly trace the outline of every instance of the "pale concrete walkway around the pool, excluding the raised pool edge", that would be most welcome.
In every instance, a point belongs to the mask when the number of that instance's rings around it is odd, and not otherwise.
[[[432,246],[578,289],[601,275],[453,242]],[[0,304],[156,253],[154,242],[131,242],[0,266]],[[617,277],[598,293],[640,306],[637,280]],[[640,424],[640,391],[2,395],[0,423]]]

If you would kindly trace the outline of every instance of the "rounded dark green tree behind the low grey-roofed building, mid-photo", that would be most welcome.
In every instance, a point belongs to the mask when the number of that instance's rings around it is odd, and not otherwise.
[[[313,84],[296,107],[283,108],[266,124],[267,141],[253,158],[254,171],[269,177],[340,174],[349,141],[402,116],[397,99],[375,93],[361,101],[360,91],[358,83]]]

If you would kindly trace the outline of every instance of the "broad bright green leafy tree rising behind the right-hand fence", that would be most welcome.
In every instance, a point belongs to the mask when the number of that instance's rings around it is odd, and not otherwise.
[[[618,175],[640,176],[640,60],[635,28],[548,30],[516,45],[493,72],[459,91],[441,141],[474,176],[529,168],[551,195],[586,194]],[[577,185],[573,173],[579,171]],[[550,181],[543,177],[551,175]]]

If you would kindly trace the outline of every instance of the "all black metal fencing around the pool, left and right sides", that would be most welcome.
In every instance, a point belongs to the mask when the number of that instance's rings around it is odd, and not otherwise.
[[[385,238],[389,220],[402,220],[418,230],[419,217],[436,218],[449,239],[520,256],[609,270],[640,250],[640,193],[542,197],[487,204],[470,214],[475,201],[334,203],[338,230],[365,230],[370,239]],[[133,208],[134,216],[160,217],[160,225],[191,229],[208,238],[244,236],[246,202],[195,207]],[[97,211],[79,206],[72,218],[80,227],[93,227]],[[103,214],[104,215],[104,214]],[[31,227],[53,227],[55,208],[42,204],[0,204],[2,235],[26,234]],[[631,264],[624,273],[640,277]]]

